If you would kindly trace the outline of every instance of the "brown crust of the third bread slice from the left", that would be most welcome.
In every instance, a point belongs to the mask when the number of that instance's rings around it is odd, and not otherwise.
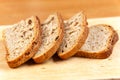
[[[76,52],[82,47],[82,45],[85,43],[85,40],[88,36],[88,33],[89,33],[89,28],[87,27],[87,18],[86,16],[83,14],[83,12],[80,12],[81,15],[82,15],[82,19],[83,21],[81,22],[81,27],[82,27],[82,31],[80,33],[80,36],[78,38],[78,40],[76,41],[75,45],[69,50],[69,51],[66,51],[66,52],[57,52],[58,53],[58,56],[61,58],[61,59],[68,59],[70,58],[71,56],[75,55]]]

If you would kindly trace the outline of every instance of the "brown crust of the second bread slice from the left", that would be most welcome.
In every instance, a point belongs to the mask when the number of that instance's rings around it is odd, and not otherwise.
[[[62,17],[59,13],[55,13],[54,15],[57,16],[57,24],[58,24],[58,28],[59,28],[59,34],[58,34],[58,39],[54,42],[54,45],[50,47],[50,49],[48,51],[46,51],[45,53],[39,54],[38,56],[34,56],[33,60],[35,61],[35,63],[43,63],[45,61],[47,61],[49,58],[51,58],[57,51],[57,49],[59,48],[62,40],[63,40],[63,35],[64,35],[64,24],[63,24],[63,20]]]

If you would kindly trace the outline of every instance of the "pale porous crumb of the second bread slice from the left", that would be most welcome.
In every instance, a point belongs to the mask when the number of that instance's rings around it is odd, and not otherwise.
[[[36,53],[36,56],[39,54],[46,53],[58,39],[59,27],[58,27],[58,19],[56,15],[50,15],[46,21],[41,25],[42,28],[42,43],[41,46]]]

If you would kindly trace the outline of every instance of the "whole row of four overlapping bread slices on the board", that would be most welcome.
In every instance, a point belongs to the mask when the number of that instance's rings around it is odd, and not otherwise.
[[[61,59],[72,56],[107,58],[118,41],[117,32],[106,24],[88,27],[83,12],[63,20],[54,13],[40,23],[32,16],[11,25],[3,31],[6,60],[11,68],[18,67],[33,59],[43,63],[57,54]]]

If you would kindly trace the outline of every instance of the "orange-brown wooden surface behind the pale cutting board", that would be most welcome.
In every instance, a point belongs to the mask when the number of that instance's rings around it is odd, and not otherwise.
[[[37,15],[43,21],[60,12],[64,18],[83,10],[88,18],[120,16],[120,0],[0,0],[0,25]]]

